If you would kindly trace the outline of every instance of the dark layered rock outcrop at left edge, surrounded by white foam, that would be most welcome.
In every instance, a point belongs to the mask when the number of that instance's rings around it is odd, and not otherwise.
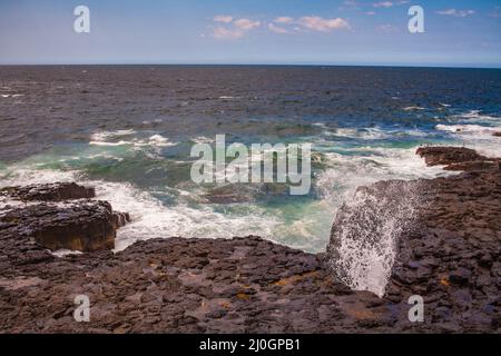
[[[95,190],[76,184],[11,187],[1,194],[12,200],[0,210],[0,234],[35,238],[51,250],[112,249],[116,230],[129,220],[107,201],[82,199],[95,197]]]

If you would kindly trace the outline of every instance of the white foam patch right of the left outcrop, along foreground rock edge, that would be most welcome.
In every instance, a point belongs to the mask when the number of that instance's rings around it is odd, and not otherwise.
[[[276,219],[265,216],[257,207],[246,216],[227,216],[212,207],[190,208],[185,205],[165,207],[148,192],[130,185],[99,182],[97,196],[111,202],[115,209],[128,211],[132,222],[118,230],[116,249],[121,250],[137,239],[167,238],[232,238],[258,235],[272,237]]]

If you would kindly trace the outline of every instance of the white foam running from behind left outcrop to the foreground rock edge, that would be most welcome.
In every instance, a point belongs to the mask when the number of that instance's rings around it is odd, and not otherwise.
[[[96,188],[98,199],[108,200],[117,211],[127,211],[132,221],[117,231],[116,250],[122,250],[140,239],[168,238],[232,238],[257,235],[273,238],[279,221],[258,207],[248,207],[245,215],[225,215],[210,206],[191,208],[187,205],[166,207],[149,192],[132,185],[81,179],[79,171],[10,169],[9,177],[0,176],[0,187],[55,181],[77,181]],[[186,191],[184,192],[186,194]]]

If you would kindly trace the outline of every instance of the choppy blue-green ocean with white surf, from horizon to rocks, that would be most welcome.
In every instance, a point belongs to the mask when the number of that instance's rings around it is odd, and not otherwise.
[[[421,145],[501,157],[497,130],[497,69],[0,67],[0,187],[95,186],[131,215],[117,250],[149,238],[257,235],[322,251],[358,186],[448,175],[415,156]],[[190,148],[223,134],[228,145],[311,142],[310,194],[194,184]]]

